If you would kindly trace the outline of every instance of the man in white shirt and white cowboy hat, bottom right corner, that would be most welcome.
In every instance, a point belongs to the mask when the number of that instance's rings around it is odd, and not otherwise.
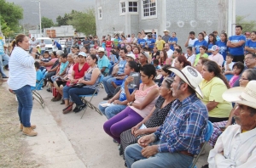
[[[228,126],[210,151],[208,163],[215,167],[255,167],[256,159],[256,81],[247,87],[233,87],[223,93],[224,100],[237,104],[236,125]]]

